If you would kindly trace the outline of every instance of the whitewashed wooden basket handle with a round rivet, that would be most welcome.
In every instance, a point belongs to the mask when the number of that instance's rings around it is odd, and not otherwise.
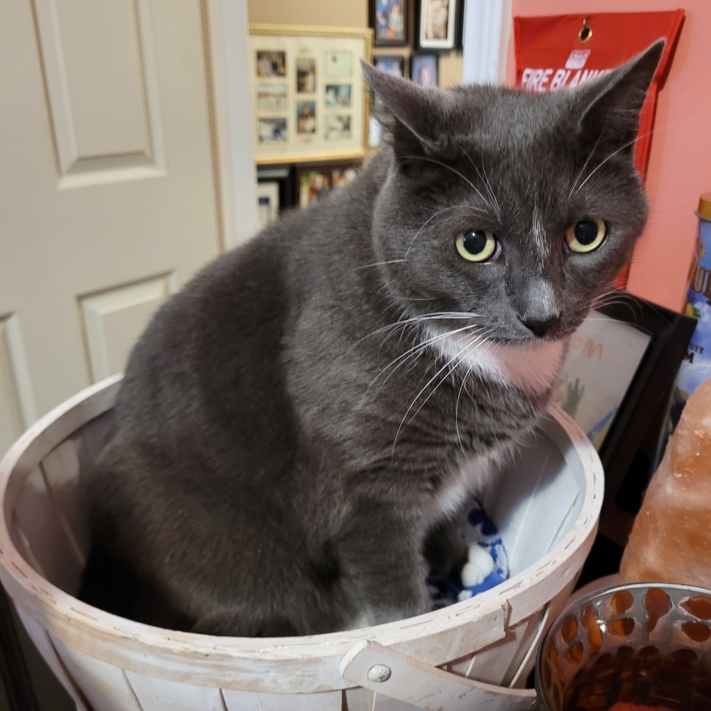
[[[367,640],[343,657],[341,676],[428,711],[529,711],[535,704],[532,689],[507,689],[467,679]]]

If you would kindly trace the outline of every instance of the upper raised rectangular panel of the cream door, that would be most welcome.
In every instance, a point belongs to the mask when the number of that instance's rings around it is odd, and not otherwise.
[[[33,5],[60,188],[164,175],[148,0]]]

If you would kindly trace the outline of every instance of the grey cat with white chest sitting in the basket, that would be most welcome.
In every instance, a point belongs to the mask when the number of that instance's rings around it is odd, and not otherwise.
[[[427,565],[465,554],[448,522],[539,422],[643,229],[634,140],[662,50],[551,94],[364,65],[383,149],[135,346],[83,482],[84,599],[237,636],[427,611]]]

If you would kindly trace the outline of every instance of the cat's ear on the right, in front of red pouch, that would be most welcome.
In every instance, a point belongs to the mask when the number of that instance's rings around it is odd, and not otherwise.
[[[600,137],[619,152],[632,153],[639,114],[665,44],[665,40],[657,40],[629,62],[577,90],[582,100],[582,132]]]

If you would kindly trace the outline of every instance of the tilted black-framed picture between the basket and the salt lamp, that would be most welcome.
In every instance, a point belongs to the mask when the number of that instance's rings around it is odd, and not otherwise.
[[[605,470],[600,532],[624,545],[656,468],[660,432],[695,319],[630,294],[574,334],[557,402],[597,448]]]

